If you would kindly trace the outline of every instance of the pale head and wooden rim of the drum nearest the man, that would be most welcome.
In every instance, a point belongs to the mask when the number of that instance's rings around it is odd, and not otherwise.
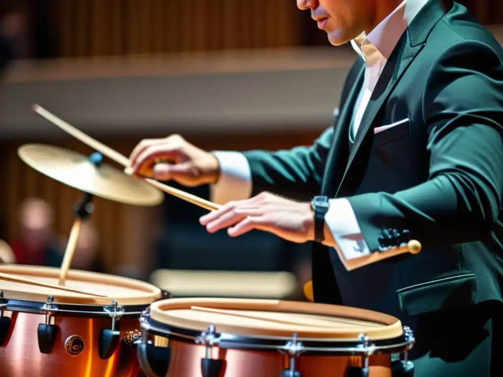
[[[358,341],[402,336],[401,322],[389,315],[335,305],[278,300],[170,299],[152,303],[151,320],[168,328],[253,338]]]

